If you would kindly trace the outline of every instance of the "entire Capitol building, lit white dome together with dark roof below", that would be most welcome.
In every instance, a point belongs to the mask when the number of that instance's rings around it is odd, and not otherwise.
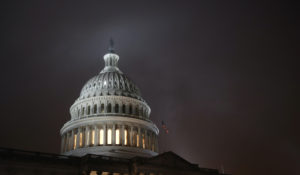
[[[219,174],[172,152],[158,154],[159,130],[139,88],[118,68],[112,46],[105,67],[83,86],[61,134],[61,154],[0,150],[0,175]]]

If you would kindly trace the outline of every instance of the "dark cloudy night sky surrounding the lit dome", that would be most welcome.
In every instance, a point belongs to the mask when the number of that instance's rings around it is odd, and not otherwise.
[[[170,129],[161,152],[235,175],[300,174],[299,5],[2,1],[0,10],[0,146],[58,153],[69,107],[113,37],[119,67]]]

